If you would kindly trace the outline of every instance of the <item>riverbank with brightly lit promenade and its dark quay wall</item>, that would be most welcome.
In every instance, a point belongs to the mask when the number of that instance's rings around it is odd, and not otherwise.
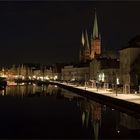
[[[140,95],[139,94],[122,94],[103,89],[88,88],[82,86],[71,85],[67,83],[50,82],[61,88],[70,90],[87,98],[94,99],[102,104],[106,104],[113,108],[126,112],[136,118],[140,118]]]

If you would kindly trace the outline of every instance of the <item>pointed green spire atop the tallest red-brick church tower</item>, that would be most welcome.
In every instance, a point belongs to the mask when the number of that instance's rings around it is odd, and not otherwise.
[[[93,26],[93,39],[95,38],[99,38],[96,9],[95,9],[94,26]]]

